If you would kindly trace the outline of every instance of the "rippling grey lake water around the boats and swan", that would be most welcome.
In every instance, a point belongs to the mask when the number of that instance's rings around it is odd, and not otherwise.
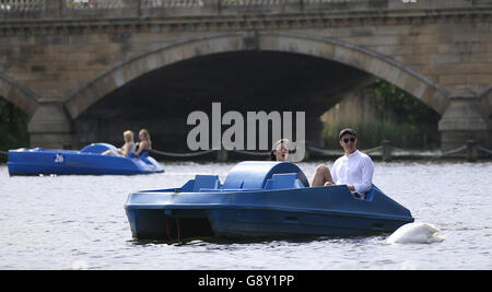
[[[329,162],[331,165],[332,162]],[[300,163],[311,177],[318,163]],[[140,176],[10,177],[0,165],[0,269],[491,269],[492,162],[375,163],[374,184],[447,234],[386,244],[386,235],[181,244],[132,240],[129,192],[223,182],[234,163],[164,163]]]

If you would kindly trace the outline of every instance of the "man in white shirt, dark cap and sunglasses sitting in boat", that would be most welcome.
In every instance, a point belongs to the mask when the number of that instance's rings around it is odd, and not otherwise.
[[[373,185],[373,161],[358,150],[358,137],[353,129],[341,130],[338,138],[345,154],[335,161],[331,172],[326,165],[319,165],[311,186],[347,185],[355,197],[363,198]]]

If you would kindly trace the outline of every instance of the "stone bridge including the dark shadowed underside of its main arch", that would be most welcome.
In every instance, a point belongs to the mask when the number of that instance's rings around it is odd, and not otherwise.
[[[318,116],[374,78],[441,115],[444,151],[491,145],[491,0],[3,0],[0,96],[32,147],[186,143],[187,115]],[[189,129],[189,128],[188,128]]]

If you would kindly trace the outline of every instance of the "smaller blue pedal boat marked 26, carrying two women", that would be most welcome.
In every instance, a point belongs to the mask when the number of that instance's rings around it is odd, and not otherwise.
[[[164,168],[147,152],[140,157],[102,155],[116,148],[107,143],[93,143],[80,151],[17,149],[9,150],[7,165],[10,175],[133,175],[162,173]]]

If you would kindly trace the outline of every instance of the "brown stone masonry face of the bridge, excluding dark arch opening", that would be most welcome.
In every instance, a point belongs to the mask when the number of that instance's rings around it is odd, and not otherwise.
[[[248,50],[385,79],[442,115],[443,151],[467,139],[491,147],[491,1],[90,2],[0,7],[0,96],[30,115],[32,147],[75,147],[73,120],[145,73]]]

